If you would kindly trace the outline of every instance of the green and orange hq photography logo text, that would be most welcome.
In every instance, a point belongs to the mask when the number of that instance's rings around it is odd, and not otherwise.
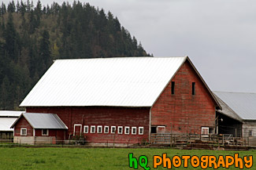
[[[139,159],[134,157],[132,153],[128,154],[128,164],[129,168],[138,169],[139,166],[145,170],[150,170],[148,165],[148,157],[145,155],[139,156]],[[168,157],[167,154],[154,155],[153,156],[153,168],[158,168],[162,166],[163,168],[230,168],[232,165],[238,169],[252,168],[253,166],[253,156],[239,157],[239,154],[232,155],[220,155],[218,157],[213,155],[202,155],[198,157],[196,155],[183,155],[183,156],[173,156]]]

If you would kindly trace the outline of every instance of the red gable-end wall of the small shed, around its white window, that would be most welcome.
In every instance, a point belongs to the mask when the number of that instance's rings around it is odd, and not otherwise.
[[[27,136],[33,136],[33,128],[23,116],[14,127],[14,136],[20,136],[20,128],[27,128]]]

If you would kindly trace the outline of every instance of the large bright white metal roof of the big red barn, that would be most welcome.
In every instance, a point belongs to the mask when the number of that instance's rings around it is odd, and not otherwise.
[[[56,60],[20,107],[151,107],[186,59]]]

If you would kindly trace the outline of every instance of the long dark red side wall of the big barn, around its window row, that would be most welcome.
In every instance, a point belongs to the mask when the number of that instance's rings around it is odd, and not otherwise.
[[[109,126],[109,133],[83,133],[86,136],[88,142],[95,143],[141,143],[143,140],[147,140],[149,137],[149,118],[150,108],[130,108],[130,107],[27,107],[27,112],[31,113],[52,113],[58,114],[61,120],[68,126],[69,130],[66,132],[66,139],[69,139],[69,135],[73,135],[74,125],[104,125]],[[111,134],[111,126],[123,126],[123,134]],[[137,128],[137,134],[132,135],[124,134],[124,126],[133,126]],[[144,134],[138,134],[138,128],[144,128]],[[103,129],[102,129],[103,130]]]

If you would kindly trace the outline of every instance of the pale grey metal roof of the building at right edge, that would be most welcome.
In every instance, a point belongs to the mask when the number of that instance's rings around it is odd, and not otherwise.
[[[233,110],[239,118],[256,120],[256,93],[214,92],[214,94]],[[237,115],[235,116],[237,117]]]

